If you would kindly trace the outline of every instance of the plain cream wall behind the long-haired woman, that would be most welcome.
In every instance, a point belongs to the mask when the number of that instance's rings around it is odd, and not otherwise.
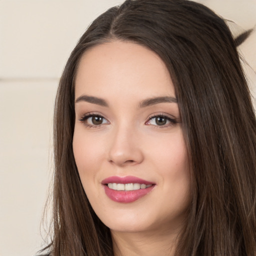
[[[0,256],[34,255],[44,244],[40,221],[51,181],[58,80],[88,24],[121,2],[0,0]],[[201,2],[235,21],[234,33],[256,24],[256,0]],[[240,51],[256,96],[254,45],[255,31]]]

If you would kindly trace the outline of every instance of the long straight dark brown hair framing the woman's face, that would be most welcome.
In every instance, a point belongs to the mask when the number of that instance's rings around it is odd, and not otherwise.
[[[113,255],[110,230],[86,198],[72,152],[76,67],[86,49],[111,40],[156,52],[175,87],[193,193],[175,255],[256,255],[256,120],[249,90],[225,22],[186,0],[126,0],[96,18],[72,51],[55,101],[52,254]]]

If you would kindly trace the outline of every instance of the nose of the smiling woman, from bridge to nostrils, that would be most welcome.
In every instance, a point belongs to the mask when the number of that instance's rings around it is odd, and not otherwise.
[[[113,130],[108,161],[118,166],[135,165],[144,159],[139,135],[134,129],[120,127]]]

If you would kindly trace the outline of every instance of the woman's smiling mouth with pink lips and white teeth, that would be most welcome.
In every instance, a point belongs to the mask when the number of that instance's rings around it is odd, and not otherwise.
[[[155,183],[135,176],[111,176],[101,182],[106,195],[116,202],[133,202],[148,194]]]

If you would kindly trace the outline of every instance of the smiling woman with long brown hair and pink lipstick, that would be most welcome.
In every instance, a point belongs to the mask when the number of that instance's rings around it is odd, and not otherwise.
[[[126,0],[92,22],[57,91],[52,255],[256,254],[235,46],[186,0]]]

